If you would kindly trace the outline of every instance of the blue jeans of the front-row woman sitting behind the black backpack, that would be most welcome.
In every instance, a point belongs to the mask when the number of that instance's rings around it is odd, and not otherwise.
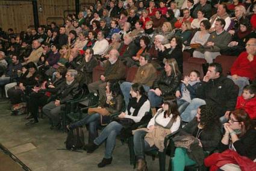
[[[92,115],[87,115],[84,119],[79,120],[78,122],[72,123],[69,125],[70,129],[77,128],[78,126],[83,126],[89,124],[89,142],[95,140],[98,135],[97,126],[101,114],[95,113]]]

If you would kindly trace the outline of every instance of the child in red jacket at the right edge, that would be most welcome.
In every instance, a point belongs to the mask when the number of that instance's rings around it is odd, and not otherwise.
[[[246,85],[242,96],[237,98],[236,109],[243,109],[252,120],[256,120],[256,86]]]

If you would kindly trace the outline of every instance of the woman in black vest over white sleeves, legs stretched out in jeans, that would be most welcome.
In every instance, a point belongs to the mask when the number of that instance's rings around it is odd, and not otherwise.
[[[119,114],[119,119],[131,119],[132,122],[140,122],[145,113],[150,110],[150,103],[146,96],[146,92],[142,84],[133,84],[130,91],[133,97],[129,104],[127,110]],[[112,162],[112,152],[114,150],[114,145],[116,143],[116,136],[120,134],[123,125],[119,122],[113,121],[107,125],[105,129],[101,132],[99,137],[97,137],[93,143],[86,147],[87,153],[92,153],[95,151],[99,145],[106,141],[105,156],[98,167],[105,167]]]

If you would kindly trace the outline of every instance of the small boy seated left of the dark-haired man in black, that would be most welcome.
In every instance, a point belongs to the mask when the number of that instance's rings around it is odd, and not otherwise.
[[[185,76],[181,80],[180,87],[176,90],[175,96],[177,98],[178,111],[183,111],[190,104],[190,101],[196,97],[196,89],[201,85],[200,73],[198,70],[192,70],[189,76]]]

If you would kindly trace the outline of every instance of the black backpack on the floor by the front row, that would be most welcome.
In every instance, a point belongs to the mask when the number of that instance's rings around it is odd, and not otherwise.
[[[65,141],[66,149],[76,151],[84,148],[84,131],[83,128],[78,127],[67,132],[67,139]]]

